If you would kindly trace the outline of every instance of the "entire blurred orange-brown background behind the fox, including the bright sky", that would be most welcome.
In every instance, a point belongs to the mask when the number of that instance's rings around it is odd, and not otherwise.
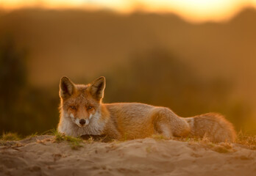
[[[0,0],[0,132],[56,128],[59,81],[256,133],[255,0]]]

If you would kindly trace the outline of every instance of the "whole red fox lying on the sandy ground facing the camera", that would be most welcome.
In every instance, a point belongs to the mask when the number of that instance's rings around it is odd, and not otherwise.
[[[102,103],[102,76],[92,84],[60,80],[60,122],[57,130],[68,136],[105,135],[110,139],[142,139],[153,134],[207,137],[212,142],[234,142],[235,130],[215,113],[179,117],[171,109],[143,103]]]

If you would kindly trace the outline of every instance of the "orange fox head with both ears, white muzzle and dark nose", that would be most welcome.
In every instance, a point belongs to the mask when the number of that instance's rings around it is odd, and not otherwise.
[[[74,84],[68,77],[60,79],[60,109],[79,127],[100,116],[104,96],[105,78],[99,77],[92,84]]]

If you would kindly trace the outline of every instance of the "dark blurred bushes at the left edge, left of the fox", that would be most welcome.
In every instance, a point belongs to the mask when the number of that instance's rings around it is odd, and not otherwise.
[[[54,128],[58,99],[50,89],[29,86],[28,53],[15,48],[12,37],[0,44],[0,131],[24,135]]]

